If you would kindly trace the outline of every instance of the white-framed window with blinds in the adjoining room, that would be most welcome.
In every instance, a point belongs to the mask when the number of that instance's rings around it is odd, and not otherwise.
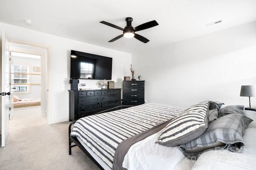
[[[14,64],[14,92],[29,92],[28,65]]]

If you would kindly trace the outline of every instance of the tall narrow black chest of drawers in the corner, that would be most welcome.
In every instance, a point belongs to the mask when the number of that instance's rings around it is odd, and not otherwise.
[[[145,81],[123,81],[123,105],[144,104]]]

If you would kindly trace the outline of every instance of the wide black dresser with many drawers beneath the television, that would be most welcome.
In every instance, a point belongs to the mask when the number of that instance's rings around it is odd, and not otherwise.
[[[68,91],[70,121],[121,105],[120,88]]]

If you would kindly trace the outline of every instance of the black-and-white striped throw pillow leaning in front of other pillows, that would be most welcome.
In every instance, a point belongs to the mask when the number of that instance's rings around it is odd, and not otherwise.
[[[208,127],[209,102],[189,107],[166,125],[158,141],[161,145],[175,147],[196,139]]]

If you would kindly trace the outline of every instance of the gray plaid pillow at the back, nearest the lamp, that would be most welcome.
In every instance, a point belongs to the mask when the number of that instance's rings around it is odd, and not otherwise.
[[[223,107],[222,109],[218,110],[218,118],[222,117],[224,115],[232,114],[232,113],[238,113],[245,115],[244,112],[244,106],[243,105],[231,105]]]

